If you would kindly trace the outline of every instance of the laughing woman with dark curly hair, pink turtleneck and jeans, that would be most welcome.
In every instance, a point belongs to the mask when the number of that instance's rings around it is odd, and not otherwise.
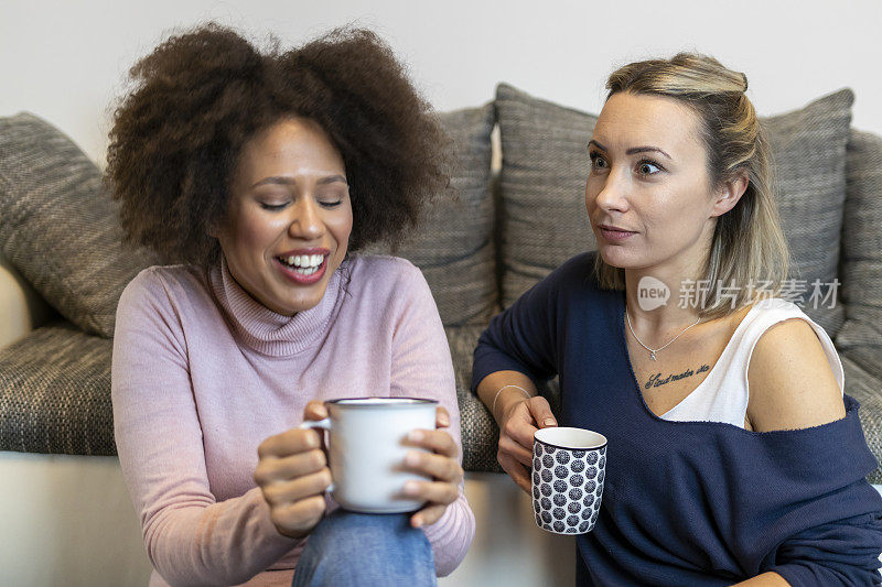
[[[420,271],[354,254],[399,241],[447,185],[428,105],[362,30],[260,53],[208,24],[131,76],[107,176],[128,239],[170,263],[128,285],[114,341],[150,584],[433,584],[474,534],[450,350]],[[405,487],[427,502],[411,515],[335,509],[298,427],[370,395],[441,406],[411,438],[431,479]]]

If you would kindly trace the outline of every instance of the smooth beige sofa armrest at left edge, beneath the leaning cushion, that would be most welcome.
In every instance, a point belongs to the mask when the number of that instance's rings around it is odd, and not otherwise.
[[[0,349],[46,324],[55,311],[0,252]]]

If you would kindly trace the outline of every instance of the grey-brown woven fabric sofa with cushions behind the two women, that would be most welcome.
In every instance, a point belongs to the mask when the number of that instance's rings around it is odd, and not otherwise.
[[[846,391],[861,402],[870,447],[882,459],[882,138],[850,127],[852,99],[843,89],[764,122],[795,290],[804,287],[804,309],[835,339]],[[504,84],[493,102],[441,116],[459,152],[452,189],[439,195],[397,254],[422,269],[445,325],[464,467],[498,471],[498,432],[469,390],[472,350],[494,313],[563,260],[594,248],[583,189],[595,117]],[[496,124],[497,173],[491,169]],[[116,303],[153,263],[119,241],[95,164],[33,115],[0,118],[0,251],[53,308],[44,325],[0,349],[0,450],[115,454]],[[827,293],[836,280],[835,303],[811,307],[811,284]],[[13,318],[3,312],[0,322]],[[546,393],[553,404],[553,382]],[[869,479],[882,482],[882,474]]]

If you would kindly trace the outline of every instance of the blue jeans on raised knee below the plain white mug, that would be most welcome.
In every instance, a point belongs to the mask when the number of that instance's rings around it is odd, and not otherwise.
[[[335,510],[310,534],[292,587],[434,586],[434,557],[410,514]]]

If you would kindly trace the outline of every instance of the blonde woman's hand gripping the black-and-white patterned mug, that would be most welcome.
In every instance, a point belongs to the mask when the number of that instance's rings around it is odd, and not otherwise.
[[[499,416],[499,449],[496,458],[517,486],[530,492],[533,435],[538,428],[557,426],[548,401],[541,395],[506,405]]]

